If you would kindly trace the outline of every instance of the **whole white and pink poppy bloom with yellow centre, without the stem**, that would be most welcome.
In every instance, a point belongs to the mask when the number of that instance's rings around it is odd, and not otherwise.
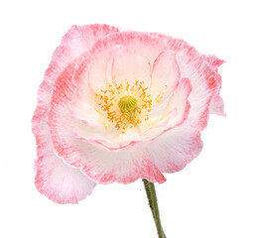
[[[184,169],[208,114],[224,115],[222,62],[165,35],[72,26],[38,91],[38,190],[77,203],[96,183],[161,183]]]

